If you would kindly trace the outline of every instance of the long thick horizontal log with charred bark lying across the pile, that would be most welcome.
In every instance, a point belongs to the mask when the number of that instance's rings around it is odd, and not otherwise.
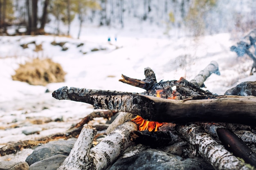
[[[117,91],[70,89],[52,93],[56,99],[92,104],[95,109],[109,109],[141,116],[148,121],[189,123],[195,121],[226,122],[255,126],[256,97],[220,96],[215,99],[172,100]]]

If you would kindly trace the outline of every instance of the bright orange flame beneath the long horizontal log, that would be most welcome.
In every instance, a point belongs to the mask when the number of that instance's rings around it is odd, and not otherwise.
[[[157,131],[160,126],[162,126],[164,123],[159,123],[157,121],[146,121],[140,116],[136,116],[131,121],[135,122],[139,126],[139,130],[148,130],[148,131]]]

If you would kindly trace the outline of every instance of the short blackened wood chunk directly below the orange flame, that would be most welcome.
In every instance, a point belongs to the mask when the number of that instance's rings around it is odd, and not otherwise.
[[[172,136],[171,131],[150,132],[148,130],[143,130],[130,132],[131,141],[135,144],[143,144],[152,148],[175,143],[175,141],[172,141]]]

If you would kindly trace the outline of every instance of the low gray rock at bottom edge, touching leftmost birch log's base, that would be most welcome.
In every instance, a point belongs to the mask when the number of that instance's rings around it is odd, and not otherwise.
[[[33,163],[29,167],[29,170],[57,170],[66,159],[66,157],[66,155],[61,154],[54,155],[42,161]]]

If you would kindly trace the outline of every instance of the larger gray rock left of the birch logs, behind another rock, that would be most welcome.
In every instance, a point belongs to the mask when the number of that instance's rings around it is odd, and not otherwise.
[[[26,159],[29,166],[37,161],[62,154],[68,156],[76,142],[76,138],[69,140],[51,141],[47,144],[38,146]]]

